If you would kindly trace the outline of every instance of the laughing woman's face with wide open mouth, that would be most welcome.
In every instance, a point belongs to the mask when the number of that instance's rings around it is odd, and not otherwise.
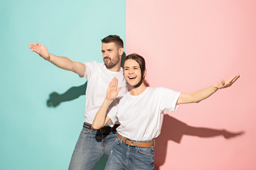
[[[142,79],[142,72],[137,61],[129,59],[124,62],[124,78],[131,86],[139,83]]]

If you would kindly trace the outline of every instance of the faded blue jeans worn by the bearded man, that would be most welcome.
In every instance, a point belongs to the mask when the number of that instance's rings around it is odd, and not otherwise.
[[[85,123],[85,125],[90,125]],[[110,156],[116,132],[100,132],[82,128],[70,161],[69,170],[89,170],[103,156]]]

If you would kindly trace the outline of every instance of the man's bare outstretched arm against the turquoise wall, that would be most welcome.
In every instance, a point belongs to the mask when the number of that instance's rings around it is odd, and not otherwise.
[[[33,44],[30,43],[28,47],[31,49],[31,51],[36,52],[38,53],[38,55],[43,57],[44,60],[48,60],[60,69],[75,72],[76,74],[79,74],[80,77],[83,77],[85,74],[85,64],[82,64],[80,62],[73,62],[67,57],[58,57],[55,55],[51,55],[48,52],[46,46],[39,44],[38,42],[34,42]]]

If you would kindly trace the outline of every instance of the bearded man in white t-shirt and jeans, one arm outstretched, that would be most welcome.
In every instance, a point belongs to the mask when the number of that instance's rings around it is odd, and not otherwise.
[[[100,130],[93,130],[92,121],[104,101],[107,86],[114,77],[117,77],[119,86],[122,87],[119,96],[127,93],[127,83],[121,67],[124,52],[122,39],[117,35],[109,35],[102,39],[102,58],[105,64],[73,62],[67,57],[50,54],[44,45],[37,42],[29,44],[29,48],[60,69],[66,69],[75,72],[79,77],[87,78],[85,123],[75,145],[69,169],[92,169],[102,156],[110,155],[114,139],[117,137],[115,129],[118,125],[114,128],[107,126]]]

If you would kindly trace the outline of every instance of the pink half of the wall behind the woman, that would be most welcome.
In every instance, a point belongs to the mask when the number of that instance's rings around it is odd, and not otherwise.
[[[127,55],[146,59],[150,86],[193,92],[241,76],[165,115],[156,169],[256,169],[255,9],[248,0],[127,0]]]

